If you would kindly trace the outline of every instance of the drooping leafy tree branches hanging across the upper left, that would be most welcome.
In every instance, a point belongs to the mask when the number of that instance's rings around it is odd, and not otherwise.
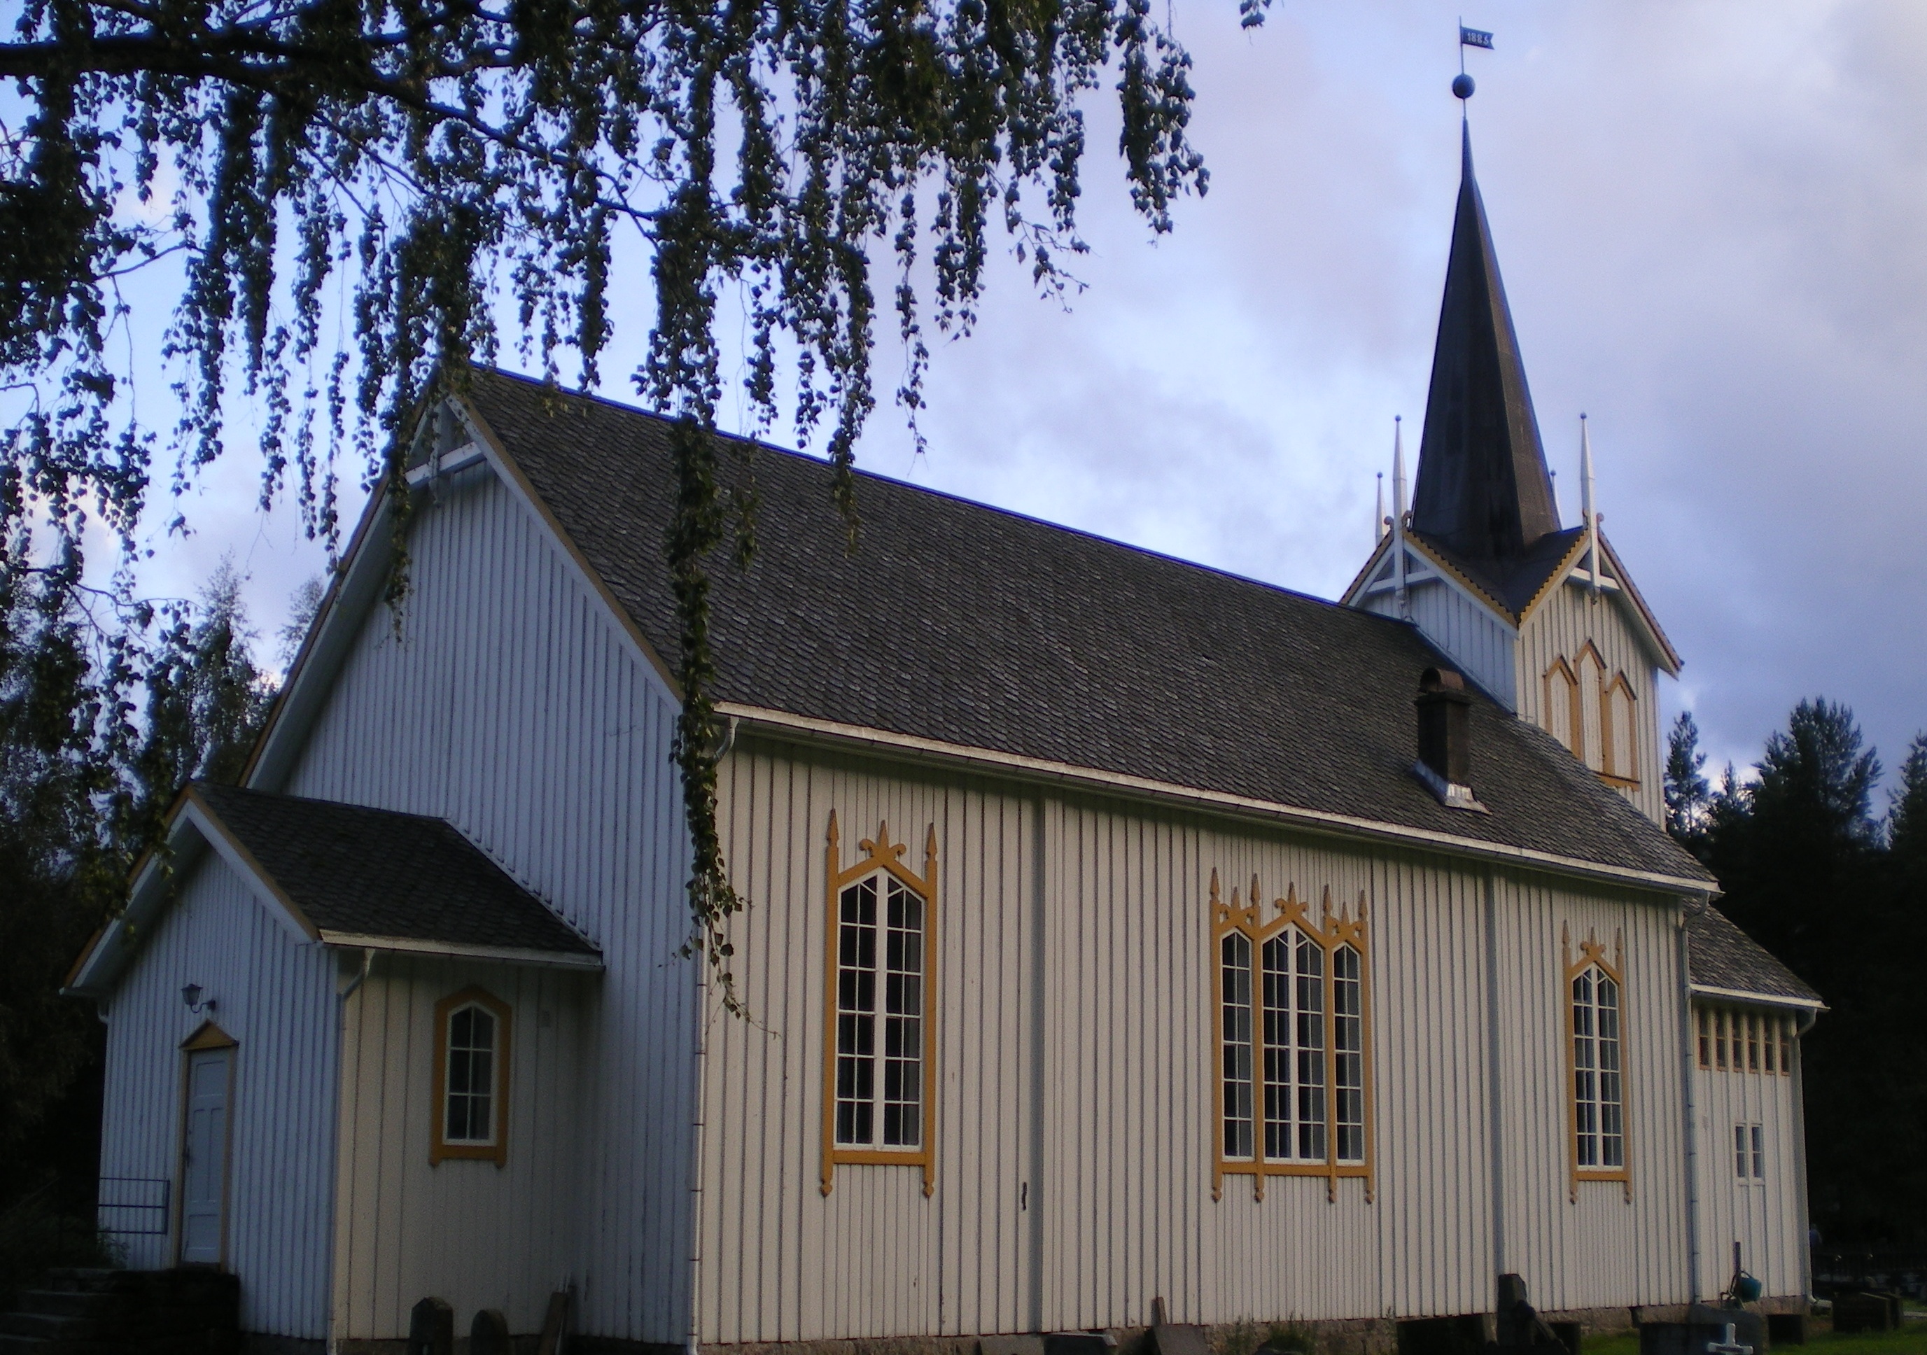
[[[495,355],[509,312],[526,360],[557,376],[572,353],[594,385],[619,243],[646,252],[634,380],[676,420],[688,948],[734,1006],[709,571],[755,540],[750,501],[719,488],[719,306],[728,291],[748,322],[757,420],[788,405],[800,443],[821,436],[854,542],[875,272],[913,422],[925,318],[971,328],[994,224],[1039,287],[1066,285],[1085,94],[1114,83],[1154,231],[1204,191],[1191,62],[1150,0],[19,0],[13,35],[0,75],[27,114],[0,121],[0,380],[21,412],[0,534],[35,517],[75,544],[92,511],[131,547],[162,447],[187,484],[243,397],[264,501],[293,492],[333,545],[337,457],[405,507],[405,428]],[[110,359],[118,287],[175,264],[181,416],[152,430],[131,359]]]

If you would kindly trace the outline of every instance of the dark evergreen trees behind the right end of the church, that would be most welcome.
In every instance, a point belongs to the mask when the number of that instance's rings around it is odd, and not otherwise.
[[[1667,829],[1719,910],[1827,1002],[1802,1045],[1819,1251],[1927,1247],[1927,734],[1877,804],[1854,713],[1800,702],[1754,775],[1713,784],[1692,715],[1667,740]]]

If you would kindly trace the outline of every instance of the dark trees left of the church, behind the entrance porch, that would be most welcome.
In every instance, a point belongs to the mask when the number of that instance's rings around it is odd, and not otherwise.
[[[233,779],[272,698],[231,569],[198,605],[112,601],[71,553],[0,571],[0,1205],[35,1183],[17,1149],[100,1054],[62,977],[179,788]]]

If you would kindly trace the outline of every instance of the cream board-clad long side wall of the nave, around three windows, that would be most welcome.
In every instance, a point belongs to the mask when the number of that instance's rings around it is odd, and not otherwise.
[[[921,869],[937,825],[931,1199],[904,1166],[838,1166],[817,1189],[832,810],[846,865],[886,819]],[[726,759],[721,819],[750,900],[732,935],[752,1020],[707,1023],[701,1342],[1131,1326],[1154,1297],[1187,1322],[1486,1311],[1493,1081],[1517,1178],[1507,1264],[1534,1301],[1684,1297],[1678,973],[1659,900],[755,738]],[[1287,887],[1314,914],[1328,887],[1333,910],[1366,894],[1370,1203],[1362,1180],[1328,1199],[1324,1178],[1268,1178],[1258,1201],[1249,1176],[1212,1201],[1214,867],[1226,900],[1256,873],[1266,910]],[[1561,923],[1624,933],[1632,1203],[1617,1183],[1567,1197]]]

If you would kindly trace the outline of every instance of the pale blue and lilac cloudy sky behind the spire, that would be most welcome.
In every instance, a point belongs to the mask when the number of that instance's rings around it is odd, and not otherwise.
[[[1744,765],[1829,696],[1892,765],[1927,727],[1927,6],[1463,4],[1497,35],[1468,54],[1472,146],[1545,447],[1572,520],[1592,416],[1607,532],[1686,657],[1667,713]],[[1459,15],[1274,0],[1241,33],[1229,0],[1172,0],[1208,197],[1152,243],[1095,108],[1089,289],[1066,310],[1002,266],[938,351],[929,455],[884,409],[861,463],[1335,596],[1393,414],[1424,414]],[[231,549],[268,630],[320,553],[251,476],[202,484],[154,578]]]

